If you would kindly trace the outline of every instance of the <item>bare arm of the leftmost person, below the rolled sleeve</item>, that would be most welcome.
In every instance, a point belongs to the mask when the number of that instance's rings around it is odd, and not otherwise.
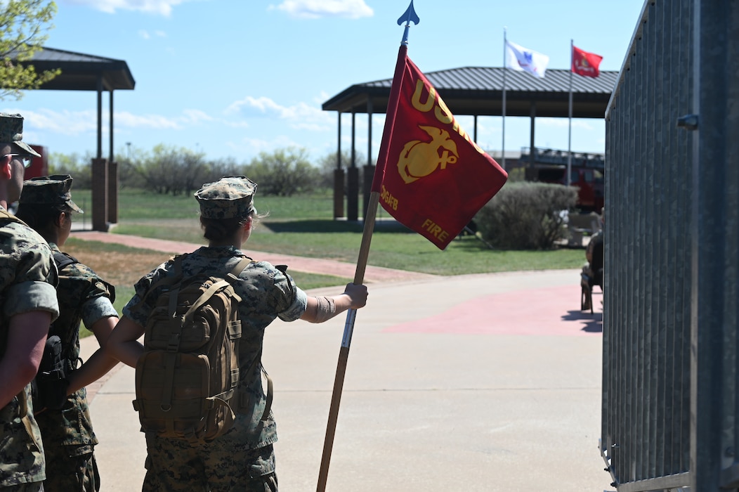
[[[51,313],[30,311],[10,318],[7,348],[0,360],[0,408],[13,400],[38,372]]]

